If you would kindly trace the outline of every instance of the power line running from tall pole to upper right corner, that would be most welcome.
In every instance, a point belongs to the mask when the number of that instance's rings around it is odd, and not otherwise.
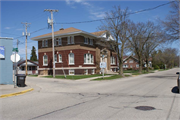
[[[161,5],[158,5],[156,7],[152,7],[152,8],[148,8],[148,9],[144,9],[144,10],[139,10],[139,11],[136,11],[136,12],[131,12],[131,13],[128,13],[127,15],[132,15],[132,14],[137,14],[137,13],[140,13],[140,12],[145,12],[145,11],[150,11],[150,10],[154,10],[154,9],[157,9],[159,7],[162,7],[162,6],[165,6],[165,5],[168,5],[168,4],[171,4],[173,3],[174,1],[171,1],[171,2],[168,2],[168,3],[164,3],[164,4],[161,4]],[[67,22],[67,23],[55,23],[55,24],[78,24],[78,23],[89,23],[89,22],[97,22],[97,21],[102,21],[102,20],[107,20],[107,19],[116,19],[118,18],[119,16],[117,17],[114,17],[114,18],[103,18],[103,19],[97,19],[97,20],[89,20],[89,21],[79,21],[79,22]]]

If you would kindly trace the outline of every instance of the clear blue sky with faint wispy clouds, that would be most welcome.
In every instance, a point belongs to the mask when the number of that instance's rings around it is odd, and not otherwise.
[[[113,10],[113,6],[120,5],[122,9],[126,7],[129,11],[135,12],[147,8],[156,7],[158,5],[168,3],[169,1],[85,1],[85,0],[64,0],[64,1],[2,1],[1,5],[1,37],[17,38],[22,36],[25,27],[21,22],[31,23],[28,27],[28,32],[32,33],[41,28],[47,27],[47,18],[50,17],[49,12],[44,12],[44,9],[58,9],[59,12],[54,13],[54,22],[68,23],[77,21],[89,21],[102,19],[104,12]],[[134,22],[146,22],[148,20],[158,23],[158,19],[165,19],[171,8],[169,5],[162,6],[155,10],[133,14],[130,19]],[[101,22],[81,23],[81,24],[55,24],[54,31],[60,28],[74,27],[86,32],[98,31],[98,26]],[[30,38],[50,33],[51,29],[44,29],[34,32],[28,37],[28,59],[32,46],[37,48],[37,42],[30,40]],[[25,59],[25,37],[18,38],[19,54]],[[13,46],[16,47],[17,39],[13,40]],[[172,47],[178,45],[172,44]]]

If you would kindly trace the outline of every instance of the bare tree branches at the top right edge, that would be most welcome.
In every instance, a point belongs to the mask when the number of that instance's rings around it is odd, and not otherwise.
[[[179,39],[179,14],[180,14],[180,8],[179,8],[179,0],[173,1],[171,3],[172,11],[170,11],[170,14],[166,17],[165,21],[161,21],[164,29],[166,30],[166,37],[168,40],[176,41]]]

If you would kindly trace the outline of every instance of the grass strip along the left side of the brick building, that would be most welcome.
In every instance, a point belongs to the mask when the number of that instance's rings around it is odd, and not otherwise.
[[[102,75],[99,75],[99,74],[94,74],[94,75],[67,75],[67,76],[66,76],[66,79],[78,80],[78,79],[98,77],[98,76],[102,76]],[[44,76],[44,77],[46,77],[46,78],[53,78],[52,75],[50,75],[50,76]],[[56,75],[55,78],[65,79],[64,75]]]

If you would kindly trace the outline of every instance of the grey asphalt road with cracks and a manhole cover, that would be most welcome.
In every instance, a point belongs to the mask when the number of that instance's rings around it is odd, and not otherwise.
[[[1,98],[0,120],[180,120],[177,71],[111,81],[27,77],[34,91]]]

